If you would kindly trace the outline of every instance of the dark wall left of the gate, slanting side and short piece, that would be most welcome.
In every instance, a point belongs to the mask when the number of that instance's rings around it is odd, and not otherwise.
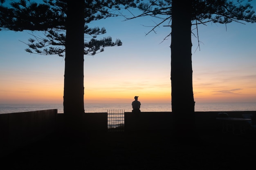
[[[63,133],[64,116],[57,109],[0,114],[0,157],[53,132]],[[107,113],[85,113],[83,122],[85,133],[108,131]]]

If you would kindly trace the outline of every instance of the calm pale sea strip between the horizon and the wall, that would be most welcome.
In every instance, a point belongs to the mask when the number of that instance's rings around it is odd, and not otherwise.
[[[108,110],[132,111],[130,103],[85,104],[85,113],[103,113]],[[58,109],[63,113],[62,104],[0,104],[0,114]],[[141,111],[171,111],[171,103],[142,103]],[[256,102],[248,103],[195,103],[195,111],[256,111]]]

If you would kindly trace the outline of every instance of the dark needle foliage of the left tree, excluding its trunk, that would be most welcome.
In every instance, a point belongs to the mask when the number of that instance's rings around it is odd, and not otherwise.
[[[67,3],[65,0],[57,0],[56,2],[53,2],[53,0],[43,0],[43,2],[44,4],[38,4],[28,0],[20,0],[18,2],[11,2],[9,7],[1,6],[1,29],[44,31],[44,37],[31,33],[33,38],[29,38],[29,42],[25,43],[29,46],[25,50],[30,53],[43,55],[58,54],[64,57]],[[116,39],[113,42],[110,36],[96,39],[97,35],[105,34],[106,29],[104,27],[90,28],[88,24],[92,21],[115,15],[111,14],[108,8],[104,9],[103,5],[91,4],[90,2],[92,1],[86,1],[87,4],[85,4],[86,8],[84,11],[84,34],[87,40],[84,43],[84,53],[95,55],[97,52],[104,51],[104,47],[121,46],[122,42],[120,39]],[[100,1],[97,3],[100,3]]]

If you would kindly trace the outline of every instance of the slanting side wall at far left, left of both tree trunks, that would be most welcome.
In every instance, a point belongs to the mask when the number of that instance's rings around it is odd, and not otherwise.
[[[57,109],[0,114],[0,157],[54,132]]]

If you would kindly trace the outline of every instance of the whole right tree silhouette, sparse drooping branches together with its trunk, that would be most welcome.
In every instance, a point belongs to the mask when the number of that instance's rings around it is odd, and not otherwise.
[[[251,1],[251,0],[248,0]],[[192,26],[198,31],[198,24],[209,22],[228,24],[230,22],[256,22],[251,4],[245,0],[150,0],[136,1],[142,13],[126,17],[127,20],[152,16],[159,22],[155,28],[170,26],[171,33],[171,98],[172,112],[178,134],[190,133],[193,129],[195,101],[192,85],[191,34]],[[198,40],[199,42],[199,40]],[[199,44],[198,44],[199,46]],[[181,132],[180,132],[181,131]],[[192,133],[191,133],[192,134]]]

